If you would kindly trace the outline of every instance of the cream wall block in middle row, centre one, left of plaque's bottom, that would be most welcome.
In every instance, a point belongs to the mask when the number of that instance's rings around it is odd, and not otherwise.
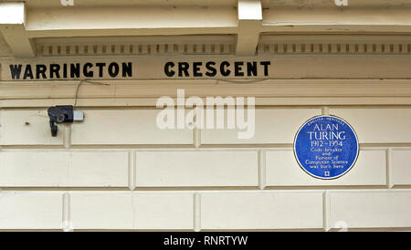
[[[257,151],[138,151],[138,187],[258,186]]]

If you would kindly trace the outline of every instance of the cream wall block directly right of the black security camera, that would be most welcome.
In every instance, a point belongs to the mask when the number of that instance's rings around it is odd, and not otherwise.
[[[160,130],[156,109],[85,109],[71,129],[73,145],[192,144],[192,130]]]

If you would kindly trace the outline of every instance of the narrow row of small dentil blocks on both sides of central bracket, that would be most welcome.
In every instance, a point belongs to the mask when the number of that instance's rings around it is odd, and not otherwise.
[[[104,55],[234,55],[234,44],[45,44],[37,47],[39,57]],[[261,43],[258,54],[411,54],[411,43]]]

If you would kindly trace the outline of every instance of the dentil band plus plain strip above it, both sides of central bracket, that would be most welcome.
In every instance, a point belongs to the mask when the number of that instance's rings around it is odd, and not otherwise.
[[[121,55],[234,55],[235,36],[143,36],[37,39],[40,57]],[[258,54],[410,55],[411,36],[264,35]]]

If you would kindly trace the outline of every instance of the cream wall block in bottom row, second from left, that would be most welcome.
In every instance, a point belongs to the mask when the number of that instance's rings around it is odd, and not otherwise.
[[[192,193],[70,193],[74,229],[193,229]]]

